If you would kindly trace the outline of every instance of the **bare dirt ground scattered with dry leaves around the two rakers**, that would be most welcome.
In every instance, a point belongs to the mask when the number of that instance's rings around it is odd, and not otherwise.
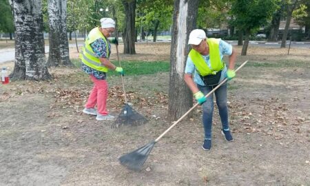
[[[121,59],[169,61],[169,48],[138,44],[138,54]],[[149,122],[120,129],[82,114],[92,84],[79,69],[51,68],[48,82],[0,85],[0,185],[310,185],[309,52],[293,48],[287,56],[287,48],[249,48],[238,64],[249,63],[229,83],[235,141],[220,134],[215,110],[213,146],[203,151],[198,107],[156,144],[141,172],[129,171],[118,157],[172,124],[168,73],[125,76],[129,101]],[[12,70],[14,64],[5,65]],[[108,107],[117,116],[121,79],[108,81]]]

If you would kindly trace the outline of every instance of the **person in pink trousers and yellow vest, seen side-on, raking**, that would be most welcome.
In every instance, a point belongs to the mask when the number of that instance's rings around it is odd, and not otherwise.
[[[100,22],[101,27],[93,28],[88,34],[81,54],[82,70],[90,74],[90,79],[94,83],[83,113],[95,115],[97,121],[114,119],[114,116],[109,114],[106,107],[108,70],[115,70],[124,75],[123,68],[116,67],[109,60],[111,45],[107,38],[114,32],[115,22],[111,18],[102,18]],[[116,38],[111,42],[118,45]]]

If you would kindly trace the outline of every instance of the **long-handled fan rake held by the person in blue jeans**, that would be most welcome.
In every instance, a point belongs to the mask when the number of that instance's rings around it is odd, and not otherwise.
[[[242,63],[242,65],[240,65],[235,70],[235,72],[240,70],[240,68],[242,68],[246,63],[247,63],[247,61]],[[209,94],[205,95],[205,97],[209,96],[214,91],[216,91],[218,89],[218,87],[223,85],[226,81],[227,81],[227,78],[224,79],[220,84],[218,84],[213,90],[211,90],[211,92],[209,92]],[[187,114],[189,114],[189,112],[192,112],[192,110],[194,110],[194,108],[197,107],[197,105],[199,105],[199,104],[196,103],[196,105],[194,105],[191,109],[189,109],[183,116],[181,116],[178,119],[178,121],[176,121],[173,125],[171,125],[165,132],[163,132],[163,134],[161,134],[161,136],[158,136],[158,138],[156,138],[154,141],[152,141],[151,143],[148,143],[147,145],[145,145],[143,147],[140,147],[140,148],[134,150],[133,152],[130,152],[130,153],[125,154],[125,155],[121,156],[120,158],[118,158],[118,160],[120,161],[121,165],[124,165],[128,169],[132,169],[132,170],[135,170],[135,171],[141,170],[143,163],[145,163],[145,161],[147,160],[147,157],[149,156],[149,153],[151,153],[154,145],[165,134],[167,134],[167,132],[169,132],[169,130],[171,130],[176,124],[178,124],[183,118],[185,118],[185,116],[187,116]]]

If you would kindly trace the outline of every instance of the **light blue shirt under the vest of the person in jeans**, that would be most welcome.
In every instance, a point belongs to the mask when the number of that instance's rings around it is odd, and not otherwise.
[[[231,55],[232,53],[232,46],[220,39],[219,46],[220,48],[220,59],[223,60],[224,55]],[[203,56],[203,55],[202,55]],[[211,67],[210,57],[209,55],[203,56],[203,59],[205,59],[205,63]],[[220,81],[223,81],[226,77],[227,68],[226,65],[222,70],[222,74],[220,75]],[[193,74],[194,73],[194,82],[198,85],[205,86],[205,83],[203,83],[203,80],[200,78],[198,72],[196,71],[195,65],[191,59],[190,56],[187,56],[186,66],[185,66],[185,74]]]

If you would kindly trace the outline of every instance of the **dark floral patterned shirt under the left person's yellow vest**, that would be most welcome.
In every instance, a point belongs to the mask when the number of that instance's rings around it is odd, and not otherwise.
[[[102,38],[97,39],[96,41],[91,43],[90,47],[92,48],[92,51],[94,51],[94,53],[97,56],[101,56],[101,57],[109,59],[110,54],[111,54],[111,44],[110,44],[109,40],[107,40],[107,43],[108,43],[109,55],[107,54],[107,52],[105,50],[107,48],[107,45],[105,45],[105,41],[103,41]],[[101,72],[99,70],[95,70],[94,68],[90,68],[89,66],[85,65],[84,63],[82,63],[81,67],[82,67],[83,72],[90,74],[90,75],[93,75],[96,79],[103,80],[106,78],[105,72]]]

